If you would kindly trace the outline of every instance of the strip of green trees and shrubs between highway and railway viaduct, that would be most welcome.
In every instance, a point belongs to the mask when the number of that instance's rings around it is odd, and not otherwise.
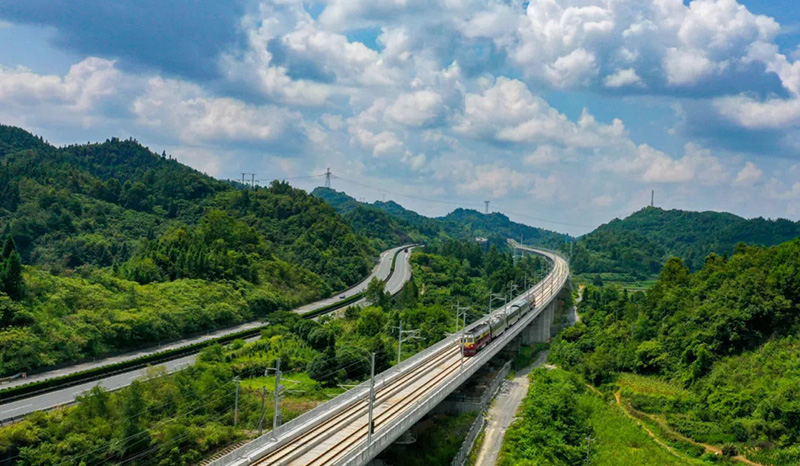
[[[174,375],[153,369],[115,392],[93,389],[74,407],[39,412],[0,429],[0,463],[198,464],[221,447],[259,431],[261,397],[273,396],[280,358],[283,421],[309,410],[368,376],[369,355],[377,369],[396,363],[397,329],[419,331],[403,344],[408,358],[454,331],[453,304],[485,311],[486,293],[508,281],[542,273],[542,261],[515,264],[509,254],[474,243],[446,242],[412,254],[413,281],[392,299],[380,282],[367,291],[368,306],[348,308],[341,318],[318,321],[274,312],[273,324],[255,342],[236,341],[204,349],[196,364]],[[234,425],[234,377],[242,379],[239,422]],[[264,417],[271,419],[272,404]],[[268,428],[269,423],[266,423]]]

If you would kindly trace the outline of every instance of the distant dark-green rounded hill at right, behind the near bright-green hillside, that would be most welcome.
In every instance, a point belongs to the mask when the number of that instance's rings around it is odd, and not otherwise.
[[[711,253],[730,254],[736,244],[771,246],[800,236],[800,222],[744,219],[720,212],[647,207],[615,219],[575,244],[573,270],[645,276],[657,273],[670,256],[696,270]]]

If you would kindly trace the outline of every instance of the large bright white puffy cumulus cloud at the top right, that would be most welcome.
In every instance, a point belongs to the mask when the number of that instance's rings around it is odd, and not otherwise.
[[[529,76],[557,87],[641,81],[658,92],[746,68],[749,49],[780,30],[734,0],[534,0],[525,19],[509,55]]]

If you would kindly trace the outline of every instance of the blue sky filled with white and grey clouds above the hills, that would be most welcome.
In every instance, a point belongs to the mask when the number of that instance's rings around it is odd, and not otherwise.
[[[570,234],[798,220],[799,45],[792,0],[0,0],[0,123]]]

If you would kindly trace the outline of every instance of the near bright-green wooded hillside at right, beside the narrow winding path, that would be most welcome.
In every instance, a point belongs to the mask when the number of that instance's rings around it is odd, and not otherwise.
[[[645,293],[588,287],[581,315],[551,361],[695,442],[800,463],[800,239],[711,254],[694,273],[669,259]]]

